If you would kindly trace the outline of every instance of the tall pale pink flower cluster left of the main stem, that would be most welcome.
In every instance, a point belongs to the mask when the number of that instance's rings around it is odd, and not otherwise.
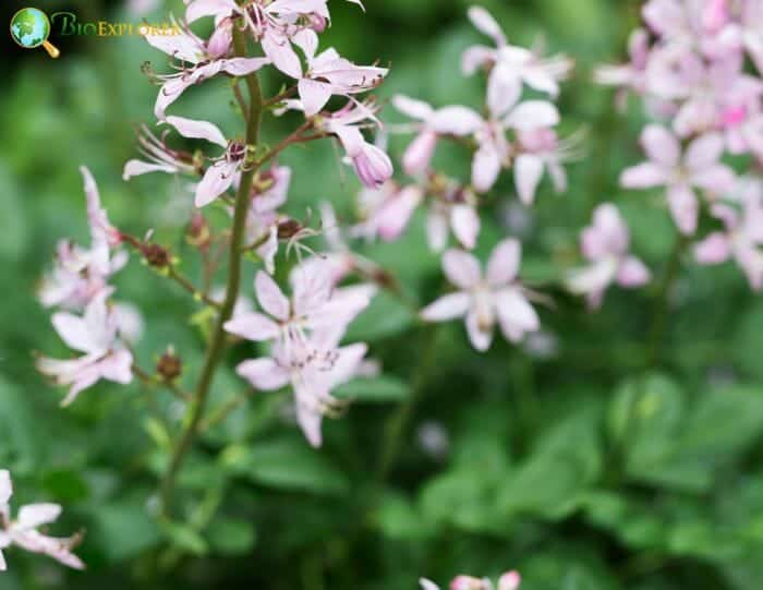
[[[63,406],[100,380],[126,384],[132,381],[132,353],[128,342],[140,336],[142,320],[131,305],[112,303],[109,279],[126,263],[120,250],[121,233],[109,222],[100,205],[98,186],[90,171],[81,169],[87,196],[90,248],[70,241],[59,243],[52,272],[44,280],[39,299],[60,308],[52,324],[61,339],[82,352],[76,359],[37,359],[37,369],[58,385],[69,386]]]

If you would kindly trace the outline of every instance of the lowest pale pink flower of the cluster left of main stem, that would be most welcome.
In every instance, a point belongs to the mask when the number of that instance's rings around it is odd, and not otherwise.
[[[83,316],[59,312],[52,323],[61,339],[84,352],[72,360],[37,359],[37,369],[58,385],[71,386],[62,406],[72,404],[80,392],[100,380],[128,384],[132,381],[132,354],[119,340],[119,314],[107,304],[111,289],[101,291]]]

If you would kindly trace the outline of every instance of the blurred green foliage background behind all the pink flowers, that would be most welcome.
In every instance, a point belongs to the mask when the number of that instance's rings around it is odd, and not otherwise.
[[[255,397],[197,445],[181,478],[183,518],[172,525],[152,515],[167,433],[177,432],[182,408],[161,392],[100,384],[60,410],[62,393],[36,374],[32,356],[65,353],[34,293],[59,239],[87,243],[80,165],[93,170],[114,224],[136,234],[155,228],[194,272],[182,238],[191,210],[182,184],[161,176],[121,180],[135,155],[133,127],[152,124],[156,87],[141,64],[150,60],[162,72],[166,58],[137,37],[66,37],[51,38],[62,50],[53,61],[5,36],[0,466],[14,473],[15,503],[60,502],[65,518],[55,531],[86,529],[80,553],[88,570],[64,571],[10,550],[0,590],[407,590],[419,576],[445,586],[459,573],[497,576],[507,568],[522,571],[526,590],[761,588],[763,305],[736,268],[699,268],[686,256],[662,297],[675,231],[657,194],[617,186],[619,171],[641,159],[641,112],[632,106],[618,115],[611,93],[590,82],[595,63],[623,59],[639,2],[480,3],[512,43],[543,39],[577,61],[560,108],[566,133],[586,130],[586,158],[570,165],[569,192],[556,196],[544,181],[537,207],[526,212],[504,179],[479,246],[486,255],[507,233],[525,241],[523,278],[555,300],[542,312],[544,336],[519,348],[496,341],[477,354],[460,323],[422,328],[380,296],[350,337],[371,342],[384,376],[350,388],[360,400],[328,421],[325,447],[313,451],[280,419],[288,396]],[[459,68],[461,51],[484,41],[465,19],[469,2],[365,4],[363,14],[331,0],[325,46],[358,63],[389,63],[382,97],[401,92],[479,108],[483,82],[463,79]],[[3,14],[10,19],[22,5],[5,1]],[[82,21],[144,17],[116,1],[36,5],[71,10]],[[181,9],[168,2],[145,17],[160,22]],[[279,84],[266,77],[266,93]],[[192,88],[173,112],[239,132],[222,81]],[[387,111],[385,118],[399,120]],[[266,139],[289,124],[268,121]],[[397,158],[405,141],[392,140]],[[460,152],[443,149],[438,160],[453,174],[468,170]],[[322,200],[350,215],[358,186],[328,143],[281,161],[294,167],[293,215],[308,218]],[[591,315],[553,285],[578,262],[578,231],[603,201],[623,210],[655,285],[610,292]],[[424,243],[416,217],[399,243],[362,251],[425,303],[443,279]],[[191,383],[202,353],[187,321],[194,302],[136,261],[116,282],[118,299],[146,318],[142,364],[174,344]],[[661,332],[663,315],[665,342],[655,347],[651,333]],[[243,389],[232,368],[251,353],[242,347],[230,356],[214,407]],[[385,425],[414,396],[395,469],[377,482]]]

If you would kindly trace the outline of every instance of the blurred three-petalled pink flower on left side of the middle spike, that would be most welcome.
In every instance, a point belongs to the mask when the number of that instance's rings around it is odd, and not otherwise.
[[[482,118],[476,112],[461,106],[435,110],[422,100],[403,95],[393,96],[392,105],[403,115],[422,121],[419,125],[419,135],[408,146],[402,157],[405,173],[411,176],[424,172],[429,167],[438,137],[471,135],[483,124]]]

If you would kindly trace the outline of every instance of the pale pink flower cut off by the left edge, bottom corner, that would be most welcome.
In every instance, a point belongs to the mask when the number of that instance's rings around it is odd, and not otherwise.
[[[84,569],[85,564],[72,551],[82,540],[80,534],[68,538],[49,537],[37,529],[50,525],[61,516],[58,504],[28,504],[19,509],[19,516],[11,518],[9,502],[13,495],[11,474],[0,470],[0,571],[5,570],[2,550],[11,545],[32,553],[40,553],[74,569]]]

